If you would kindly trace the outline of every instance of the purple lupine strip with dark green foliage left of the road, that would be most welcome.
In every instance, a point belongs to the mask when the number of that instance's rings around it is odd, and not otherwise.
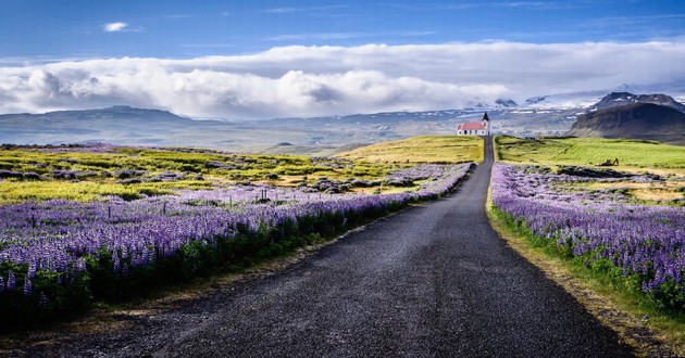
[[[225,165],[209,163],[211,168]],[[27,312],[50,316],[87,307],[94,298],[128,296],[151,283],[249,265],[411,202],[437,197],[469,168],[419,165],[377,180],[411,187],[402,193],[344,194],[346,184],[378,182],[341,183],[322,177],[287,188],[214,181],[208,189],[174,189],[171,194],[0,205],[0,314],[5,322]]]

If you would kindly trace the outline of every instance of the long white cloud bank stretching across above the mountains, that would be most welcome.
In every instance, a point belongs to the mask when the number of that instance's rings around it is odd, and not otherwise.
[[[115,104],[244,119],[427,111],[683,82],[684,62],[681,42],[294,46],[190,60],[65,61],[0,67],[0,113]]]

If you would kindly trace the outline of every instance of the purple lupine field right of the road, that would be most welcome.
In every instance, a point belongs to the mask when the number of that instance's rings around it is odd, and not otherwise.
[[[583,172],[553,174],[545,167],[497,164],[491,199],[562,255],[606,274],[622,276],[659,305],[684,310],[685,209],[639,204],[621,190],[577,189],[587,182],[663,184],[664,179],[645,175],[597,178],[597,171]],[[578,186],[574,189],[569,183]]]

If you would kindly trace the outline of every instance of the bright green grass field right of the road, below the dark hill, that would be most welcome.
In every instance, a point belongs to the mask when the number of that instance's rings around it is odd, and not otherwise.
[[[597,165],[619,158],[619,168],[682,169],[685,146],[651,141],[603,138],[523,140],[496,137],[501,161],[550,165]]]

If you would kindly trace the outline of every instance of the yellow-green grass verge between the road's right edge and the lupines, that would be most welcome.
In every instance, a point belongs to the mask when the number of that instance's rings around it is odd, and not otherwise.
[[[626,290],[584,265],[562,259],[539,240],[509,226],[489,195],[487,214],[493,228],[509,246],[573,295],[602,324],[614,330],[637,356],[685,356],[685,317],[661,311],[640,292]]]

